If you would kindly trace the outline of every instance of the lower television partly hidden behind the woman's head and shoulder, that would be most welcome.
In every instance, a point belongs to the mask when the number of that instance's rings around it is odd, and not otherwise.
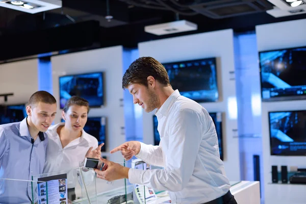
[[[65,122],[63,119],[61,121]],[[84,126],[84,131],[95,137],[98,140],[98,144],[104,143],[104,145],[101,147],[101,151],[106,151],[106,117],[87,118],[87,122]]]

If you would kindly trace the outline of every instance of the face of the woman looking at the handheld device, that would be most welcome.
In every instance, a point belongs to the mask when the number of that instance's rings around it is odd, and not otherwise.
[[[65,125],[68,124],[71,131],[81,131],[87,122],[87,112],[88,108],[86,106],[70,106],[66,113],[64,111],[62,113]]]

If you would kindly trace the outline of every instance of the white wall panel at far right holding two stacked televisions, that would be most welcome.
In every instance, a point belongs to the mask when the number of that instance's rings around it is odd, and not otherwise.
[[[306,19],[258,25],[256,27],[259,52],[306,45]],[[306,110],[306,100],[276,101],[262,103],[262,136],[265,180],[265,204],[305,203],[306,185],[269,184],[272,182],[272,165],[281,171],[282,165],[306,168],[305,157],[270,156],[270,111]]]

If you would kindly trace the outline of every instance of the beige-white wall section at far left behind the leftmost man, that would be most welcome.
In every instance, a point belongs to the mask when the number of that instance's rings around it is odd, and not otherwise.
[[[8,96],[7,104],[27,103],[30,96],[38,91],[38,60],[24,60],[0,64],[0,94]],[[4,97],[0,97],[4,104]]]

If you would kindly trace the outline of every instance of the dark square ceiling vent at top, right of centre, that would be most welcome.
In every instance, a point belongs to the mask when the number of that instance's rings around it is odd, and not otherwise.
[[[195,4],[190,6],[190,8],[200,14],[217,19],[259,13],[273,7],[266,0],[219,0]]]

